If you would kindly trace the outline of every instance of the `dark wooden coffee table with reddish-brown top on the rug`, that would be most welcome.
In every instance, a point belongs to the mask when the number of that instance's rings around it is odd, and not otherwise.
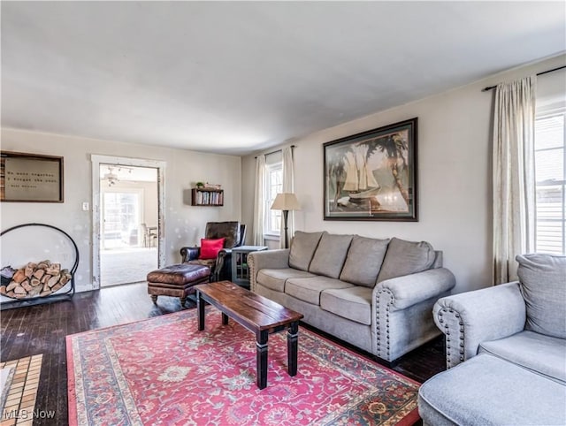
[[[196,308],[198,309],[198,330],[204,330],[204,301],[222,312],[222,323],[228,317],[256,333],[257,387],[267,386],[267,339],[272,333],[287,331],[287,369],[289,376],[297,374],[297,351],[299,340],[299,321],[302,314],[287,309],[252,293],[230,281],[195,285]]]

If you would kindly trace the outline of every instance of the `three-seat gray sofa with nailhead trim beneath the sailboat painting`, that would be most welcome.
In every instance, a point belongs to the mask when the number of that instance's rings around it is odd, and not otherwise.
[[[295,232],[289,249],[251,253],[250,287],[303,321],[393,362],[440,334],[432,305],[455,286],[427,242]]]

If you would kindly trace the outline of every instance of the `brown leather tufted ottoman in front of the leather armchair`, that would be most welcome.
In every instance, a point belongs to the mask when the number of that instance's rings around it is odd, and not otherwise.
[[[194,285],[208,283],[210,268],[203,265],[178,263],[148,274],[148,294],[157,303],[157,296],[172,296],[180,299],[180,306],[185,305],[187,295],[195,293]]]

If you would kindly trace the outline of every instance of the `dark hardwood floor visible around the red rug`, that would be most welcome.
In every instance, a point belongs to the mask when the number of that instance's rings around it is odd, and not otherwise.
[[[195,308],[195,305],[187,300],[189,307]],[[43,354],[35,409],[54,410],[56,413],[52,419],[34,419],[34,425],[64,425],[67,424],[65,336],[180,309],[179,299],[171,297],[160,297],[155,306],[149,299],[146,284],[139,283],[77,293],[73,300],[68,301],[3,310],[0,312],[0,361]],[[443,340],[435,339],[406,354],[393,369],[424,382],[445,369]]]

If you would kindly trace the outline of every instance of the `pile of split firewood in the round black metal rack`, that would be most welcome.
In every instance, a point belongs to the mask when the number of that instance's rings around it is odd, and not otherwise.
[[[61,269],[61,263],[29,262],[14,272],[10,284],[0,285],[0,293],[15,299],[49,296],[71,281],[71,278],[69,270]]]

